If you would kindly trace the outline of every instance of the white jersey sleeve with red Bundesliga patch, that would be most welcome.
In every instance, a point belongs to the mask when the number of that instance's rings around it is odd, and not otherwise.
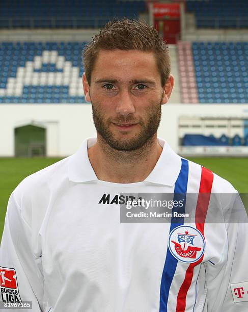
[[[0,248],[0,302],[31,301],[32,309],[28,311],[46,312],[49,309],[44,304],[43,284],[41,256],[32,252],[32,230],[24,220],[13,192]],[[0,307],[0,311],[6,309]]]

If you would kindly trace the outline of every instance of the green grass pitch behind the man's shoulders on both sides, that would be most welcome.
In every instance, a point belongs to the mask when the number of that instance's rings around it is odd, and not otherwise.
[[[8,198],[20,181],[58,158],[0,158],[0,240]],[[190,159],[229,180],[240,193],[248,193],[248,158],[194,158]]]

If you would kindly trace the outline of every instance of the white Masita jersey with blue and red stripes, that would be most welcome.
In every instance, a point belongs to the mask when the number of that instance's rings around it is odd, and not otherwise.
[[[230,183],[179,157],[162,139],[160,158],[144,181],[98,180],[87,152],[95,142],[85,140],[11,194],[0,250],[1,300],[32,301],[26,311],[35,312],[247,312],[247,220],[206,222],[206,195],[202,202],[198,197],[190,224],[184,217],[120,222],[127,199],[121,193],[181,193],[187,201],[190,193],[237,193]],[[233,202],[220,198],[216,216],[223,208],[232,211]]]

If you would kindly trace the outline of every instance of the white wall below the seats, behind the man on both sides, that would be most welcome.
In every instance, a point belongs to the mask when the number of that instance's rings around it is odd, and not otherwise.
[[[248,146],[180,147],[184,134],[244,135],[248,105],[186,105],[162,106],[158,136],[183,155],[224,154],[248,155]],[[211,129],[205,123],[212,124]],[[96,136],[92,110],[88,104],[10,104],[0,106],[0,157],[15,156],[15,129],[34,125],[45,129],[47,157],[65,157],[74,153],[87,137]],[[187,124],[187,127],[182,125]],[[225,126],[227,124],[227,126]],[[221,125],[221,126],[219,126]]]

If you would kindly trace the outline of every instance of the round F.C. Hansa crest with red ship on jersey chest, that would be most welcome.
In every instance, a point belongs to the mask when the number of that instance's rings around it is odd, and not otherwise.
[[[205,241],[198,229],[188,225],[180,225],[170,233],[168,246],[176,259],[193,263],[197,262],[203,255]]]

